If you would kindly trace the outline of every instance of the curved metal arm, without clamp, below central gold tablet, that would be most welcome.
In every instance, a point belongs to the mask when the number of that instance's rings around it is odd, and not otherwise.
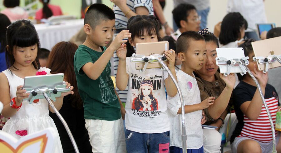
[[[182,151],[183,153],[186,153],[186,131],[185,131],[185,103],[183,100],[183,96],[180,90],[180,86],[178,84],[178,82],[176,81],[175,77],[173,76],[172,72],[169,70],[169,68],[165,65],[165,63],[163,62],[163,60],[161,58],[156,58],[157,61],[159,61],[159,63],[162,65],[163,68],[166,69],[166,71],[168,72],[169,76],[171,77],[171,79],[173,80],[173,82],[175,83],[175,86],[179,92],[179,96],[180,96],[180,103],[181,103],[181,123],[182,123]]]

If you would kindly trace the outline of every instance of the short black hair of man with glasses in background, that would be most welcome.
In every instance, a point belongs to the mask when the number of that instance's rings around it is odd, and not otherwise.
[[[196,10],[195,6],[191,4],[180,4],[173,9],[172,11],[173,18],[175,20],[176,25],[179,28],[181,28],[180,21],[181,20],[187,21],[186,19],[189,16],[191,10]]]

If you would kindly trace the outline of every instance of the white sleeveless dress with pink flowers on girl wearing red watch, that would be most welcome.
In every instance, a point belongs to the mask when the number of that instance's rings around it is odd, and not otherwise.
[[[15,74],[12,75],[9,70],[5,70],[3,73],[9,81],[11,98],[16,97],[17,86],[23,85],[24,79]],[[24,135],[27,131],[27,134],[32,134],[44,130],[47,127],[53,127],[57,132],[53,152],[63,152],[57,127],[53,119],[49,116],[49,104],[45,99],[40,99],[36,104],[29,104],[28,101],[23,101],[22,107],[14,116],[10,117],[2,131],[11,134],[17,139],[21,139],[23,136],[18,135],[19,133]],[[16,131],[18,131],[18,134],[16,134]]]

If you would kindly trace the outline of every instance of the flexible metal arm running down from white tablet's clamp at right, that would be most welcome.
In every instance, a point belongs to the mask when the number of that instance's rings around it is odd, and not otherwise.
[[[270,126],[271,126],[271,131],[272,131],[272,139],[273,139],[273,146],[272,146],[272,153],[277,153],[276,151],[276,138],[275,138],[275,129],[274,129],[274,124],[273,124],[273,121],[272,121],[272,117],[270,115],[270,112],[269,112],[269,109],[268,109],[268,106],[266,104],[266,101],[264,99],[264,94],[263,94],[263,91],[261,90],[261,87],[259,85],[259,82],[258,80],[254,77],[254,75],[251,73],[251,71],[249,70],[249,68],[247,67],[247,65],[245,64],[245,62],[240,59],[240,62],[241,64],[243,65],[243,67],[247,70],[247,72],[249,73],[249,75],[252,77],[252,79],[255,81],[257,87],[258,87],[258,90],[259,90],[259,94],[263,100],[263,104],[264,104],[264,107],[265,107],[265,110],[266,110],[266,113],[267,113],[267,116],[269,118],[269,122],[270,122]]]

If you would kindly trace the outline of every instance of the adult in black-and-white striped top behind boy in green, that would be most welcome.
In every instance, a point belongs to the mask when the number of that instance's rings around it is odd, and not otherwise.
[[[154,15],[152,0],[110,0],[114,2],[113,11],[115,13],[115,36],[122,30],[127,29],[128,19],[136,15]],[[125,38],[127,40],[127,38]],[[114,62],[111,66],[111,72],[114,76],[117,74],[119,58],[116,52],[113,54]],[[122,102],[126,102],[128,87],[124,91],[120,91],[116,87],[116,92]]]

